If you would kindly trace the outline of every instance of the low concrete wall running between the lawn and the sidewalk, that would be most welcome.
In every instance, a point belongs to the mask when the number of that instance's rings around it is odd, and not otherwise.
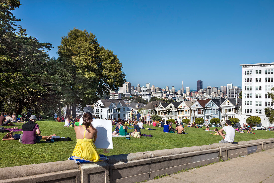
[[[74,163],[73,160],[0,168],[2,182],[141,182],[157,175],[201,166],[263,149],[274,148],[274,138],[215,143],[176,149],[109,156],[107,162]],[[12,170],[11,170],[12,169]]]

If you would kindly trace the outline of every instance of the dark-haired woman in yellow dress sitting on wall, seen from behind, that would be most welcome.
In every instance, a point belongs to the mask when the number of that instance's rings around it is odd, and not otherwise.
[[[91,124],[92,119],[92,113],[86,112],[83,115],[83,124],[74,127],[77,143],[72,156],[97,162],[100,159],[99,153],[94,145],[97,138],[97,130]]]

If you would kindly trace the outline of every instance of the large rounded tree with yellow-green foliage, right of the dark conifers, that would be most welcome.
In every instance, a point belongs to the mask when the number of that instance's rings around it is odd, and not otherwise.
[[[73,116],[77,105],[91,104],[126,81],[118,57],[101,47],[95,35],[86,30],[70,30],[62,37],[57,53],[63,66],[60,90],[65,102],[73,104]]]

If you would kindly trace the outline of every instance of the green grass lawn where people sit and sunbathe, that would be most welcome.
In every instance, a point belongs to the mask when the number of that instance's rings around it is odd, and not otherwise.
[[[52,120],[42,120],[37,121],[36,123],[39,124],[41,135],[56,134],[60,137],[70,137],[72,141],[48,143],[45,142],[45,140],[41,140],[40,143],[33,145],[21,144],[18,140],[1,141],[0,168],[62,161],[67,160],[68,157],[72,155],[72,151],[76,144],[76,135],[73,127],[63,127],[65,122],[55,122]],[[23,123],[16,123],[19,129],[21,129],[22,124]],[[201,128],[186,127],[185,129],[187,134],[163,133],[162,127],[153,127],[152,125],[150,125],[150,128],[158,130],[141,130],[141,133],[151,134],[153,137],[131,137],[130,140],[126,140],[125,137],[113,137],[113,149],[110,150],[110,153],[105,155],[109,156],[159,149],[208,145],[222,140],[220,135],[211,135],[211,132],[203,131]],[[114,131],[115,128],[113,127],[112,129]],[[211,129],[214,128],[212,127]],[[133,132],[133,129],[128,129],[128,132]],[[15,132],[14,134],[21,133],[22,132]],[[236,133],[234,141],[237,142],[274,137],[274,132],[257,130],[255,133],[256,134]],[[0,135],[2,135],[1,139],[5,134],[6,133],[0,133]],[[98,149],[98,152],[103,153],[103,150]]]

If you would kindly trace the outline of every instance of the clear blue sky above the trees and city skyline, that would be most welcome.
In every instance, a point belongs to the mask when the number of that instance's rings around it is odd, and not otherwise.
[[[274,1],[20,2],[18,24],[52,43],[51,57],[70,29],[86,29],[118,56],[134,86],[238,86],[239,64],[274,62]]]

